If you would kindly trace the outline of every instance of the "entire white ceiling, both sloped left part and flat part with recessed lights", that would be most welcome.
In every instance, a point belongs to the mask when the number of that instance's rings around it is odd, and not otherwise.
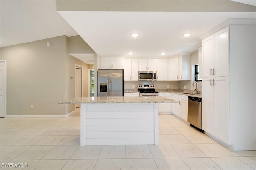
[[[256,1],[242,1],[256,6]],[[1,0],[1,47],[79,34],[99,55],[158,57],[194,52],[199,36],[228,18],[256,18],[255,12],[85,12],[56,11],[51,1]],[[65,18],[65,20],[63,18]],[[71,27],[71,26],[72,27]],[[74,28],[74,29],[73,29]],[[130,37],[132,32],[140,36]],[[182,34],[191,32],[184,38]],[[72,54],[92,63],[93,55]]]

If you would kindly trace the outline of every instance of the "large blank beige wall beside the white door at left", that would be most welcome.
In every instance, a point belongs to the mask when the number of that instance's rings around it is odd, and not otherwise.
[[[65,114],[65,105],[58,104],[65,99],[65,45],[65,36],[58,36],[1,48],[1,59],[7,60],[7,115]]]

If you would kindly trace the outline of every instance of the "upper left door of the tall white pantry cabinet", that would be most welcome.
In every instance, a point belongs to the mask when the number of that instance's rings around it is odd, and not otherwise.
[[[213,57],[213,36],[202,40],[202,78],[212,77]]]

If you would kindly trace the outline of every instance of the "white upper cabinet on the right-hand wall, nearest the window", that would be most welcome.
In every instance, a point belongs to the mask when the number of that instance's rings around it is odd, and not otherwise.
[[[190,80],[190,53],[169,59],[169,80]]]

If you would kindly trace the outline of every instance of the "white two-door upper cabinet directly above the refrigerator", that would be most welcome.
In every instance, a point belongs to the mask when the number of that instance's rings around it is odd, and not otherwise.
[[[124,69],[124,57],[100,57],[100,69]]]

